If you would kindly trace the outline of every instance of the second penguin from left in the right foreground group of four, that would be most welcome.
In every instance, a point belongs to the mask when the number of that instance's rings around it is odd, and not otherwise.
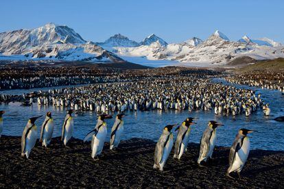
[[[187,118],[184,122],[182,122],[182,125],[175,130],[178,130],[178,136],[176,137],[176,144],[174,147],[174,158],[178,158],[178,160],[180,160],[180,157],[187,149],[191,130],[190,125],[196,124],[192,122],[194,119],[195,118]]]

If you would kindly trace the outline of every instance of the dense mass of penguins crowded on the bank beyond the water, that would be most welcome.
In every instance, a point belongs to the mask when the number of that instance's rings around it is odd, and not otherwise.
[[[23,105],[36,102],[39,106],[53,105],[98,114],[127,110],[214,110],[220,116],[250,116],[265,105],[261,95],[255,95],[252,90],[215,84],[211,79],[190,76],[163,79],[150,77],[143,81],[74,86],[38,91],[36,95],[21,95]],[[7,99],[7,95],[2,95],[4,98]]]

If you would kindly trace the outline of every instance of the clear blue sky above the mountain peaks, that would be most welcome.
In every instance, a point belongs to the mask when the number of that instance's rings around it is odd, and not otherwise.
[[[45,23],[68,25],[85,40],[113,34],[140,41],[154,33],[167,42],[206,39],[216,29],[230,40],[245,34],[284,43],[284,1],[1,1],[0,32]]]

